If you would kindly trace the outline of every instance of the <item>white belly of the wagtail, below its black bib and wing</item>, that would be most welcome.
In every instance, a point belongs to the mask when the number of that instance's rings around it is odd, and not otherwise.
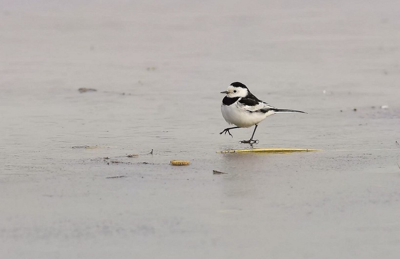
[[[223,119],[229,124],[234,124],[241,128],[248,128],[258,124],[261,120],[264,120],[270,115],[273,115],[274,111],[263,112],[248,112],[238,105],[237,102],[231,105],[221,104],[221,112]]]

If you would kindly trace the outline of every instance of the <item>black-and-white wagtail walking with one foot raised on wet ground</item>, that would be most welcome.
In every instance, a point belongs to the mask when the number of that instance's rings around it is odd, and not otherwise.
[[[234,124],[237,127],[226,128],[220,134],[225,133],[226,135],[226,133],[228,133],[233,138],[229,130],[248,128],[256,125],[251,138],[249,140],[241,140],[240,143],[258,143],[258,140],[253,140],[254,133],[256,132],[260,121],[270,115],[289,112],[306,113],[296,110],[277,109],[265,101],[255,97],[250,93],[247,86],[240,82],[231,83],[231,85],[228,86],[228,90],[221,92],[221,94],[226,94],[221,103],[223,119],[225,119],[229,124]]]

